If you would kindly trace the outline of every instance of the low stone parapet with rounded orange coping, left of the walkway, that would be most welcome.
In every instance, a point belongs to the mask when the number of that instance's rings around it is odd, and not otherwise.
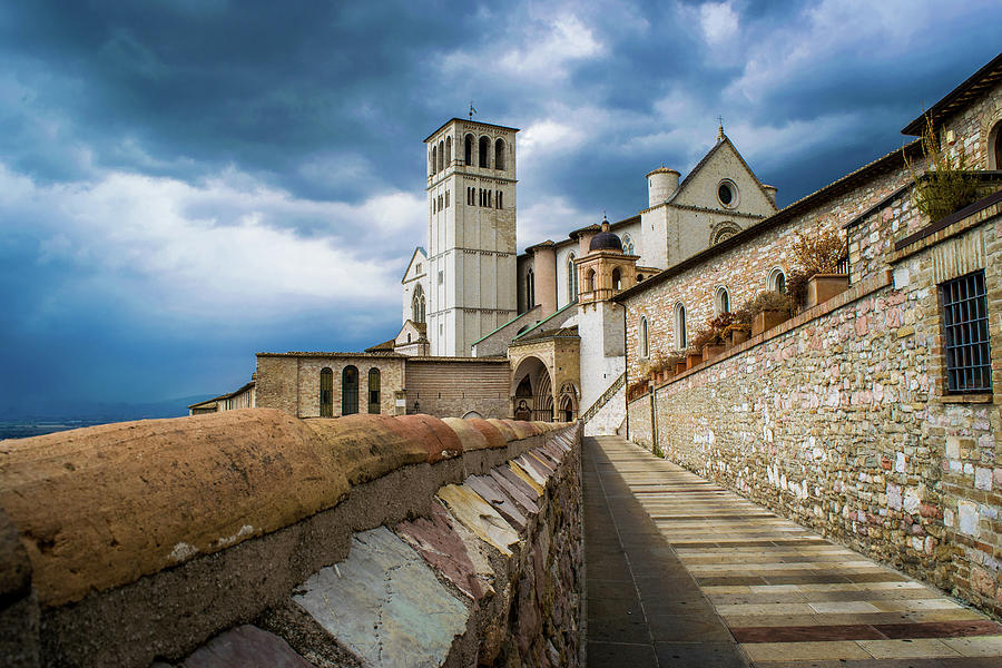
[[[252,409],[0,442],[4,666],[577,666],[578,425]]]

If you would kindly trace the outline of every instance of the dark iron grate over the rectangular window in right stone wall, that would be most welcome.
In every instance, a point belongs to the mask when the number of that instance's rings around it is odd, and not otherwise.
[[[946,386],[950,392],[991,392],[988,301],[984,272],[941,286],[946,334]]]

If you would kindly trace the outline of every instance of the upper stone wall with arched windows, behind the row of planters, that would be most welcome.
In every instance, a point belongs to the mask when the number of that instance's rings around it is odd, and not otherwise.
[[[797,232],[841,227],[890,195],[911,178],[906,169],[895,169],[870,179],[837,197],[827,199],[807,213],[773,229],[757,234],[747,243],[724,250],[713,259],[658,283],[627,304],[627,383],[644,376],[640,356],[640,317],[648,321],[650,353],[671,354],[680,346],[675,335],[675,305],[686,307],[689,340],[706,321],[714,317],[714,294],[724,286],[730,294],[731,308],[768,289],[774,267],[790,272],[792,249]]]

